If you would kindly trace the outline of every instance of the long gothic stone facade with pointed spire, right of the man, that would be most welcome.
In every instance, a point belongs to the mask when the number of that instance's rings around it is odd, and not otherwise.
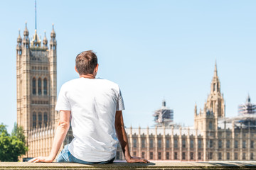
[[[126,128],[132,156],[149,160],[252,161],[255,160],[255,115],[225,118],[217,67],[203,111],[194,111],[194,127],[177,125]],[[244,123],[241,123],[241,120]],[[117,147],[116,159],[124,159]]]

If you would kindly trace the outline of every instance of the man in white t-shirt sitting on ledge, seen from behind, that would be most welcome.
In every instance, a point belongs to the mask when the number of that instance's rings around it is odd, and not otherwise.
[[[106,79],[95,79],[99,64],[92,51],[81,52],[75,59],[79,79],[61,86],[56,104],[60,120],[53,147],[48,157],[36,157],[29,162],[53,162],[70,127],[74,139],[58,155],[57,162],[107,164],[114,161],[117,138],[127,162],[144,162],[131,157],[122,110],[124,102],[117,84]],[[116,136],[117,135],[117,136]]]

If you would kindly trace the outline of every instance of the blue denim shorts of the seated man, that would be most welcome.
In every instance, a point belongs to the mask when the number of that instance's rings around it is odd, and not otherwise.
[[[114,161],[114,158],[105,161],[105,162],[85,162],[80,159],[75,158],[68,150],[68,145],[65,145],[63,150],[58,155],[56,162],[70,162],[70,163],[80,163],[80,164],[111,164]]]

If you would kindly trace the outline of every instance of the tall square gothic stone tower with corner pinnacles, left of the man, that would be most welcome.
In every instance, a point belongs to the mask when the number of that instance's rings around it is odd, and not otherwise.
[[[28,144],[26,157],[46,156],[54,136],[56,103],[56,40],[46,33],[43,45],[37,30],[28,38],[27,25],[23,40],[19,33],[16,47],[17,124],[23,127]]]

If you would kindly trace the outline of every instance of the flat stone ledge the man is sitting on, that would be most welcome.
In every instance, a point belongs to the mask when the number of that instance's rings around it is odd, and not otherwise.
[[[256,162],[156,162],[149,164],[74,164],[74,163],[28,163],[0,162],[0,169],[255,169]]]

